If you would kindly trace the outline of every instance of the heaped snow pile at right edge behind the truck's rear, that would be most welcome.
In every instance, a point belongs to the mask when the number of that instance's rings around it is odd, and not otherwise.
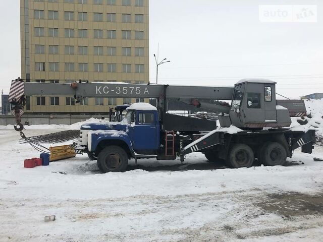
[[[295,131],[315,129],[316,134],[323,136],[323,99],[305,100],[306,117],[292,117],[291,128]]]

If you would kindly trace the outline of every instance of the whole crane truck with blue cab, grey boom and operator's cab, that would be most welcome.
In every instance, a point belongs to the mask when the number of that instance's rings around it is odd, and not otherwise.
[[[187,154],[202,152],[209,161],[225,160],[233,168],[250,167],[255,158],[265,165],[283,165],[293,151],[314,148],[315,130],[288,128],[292,116],[305,116],[303,100],[277,100],[276,82],[243,79],[234,87],[176,86],[127,83],[32,83],[12,81],[9,102],[22,131],[25,96],[155,98],[157,107],[134,103],[119,122],[82,125],[77,153],[97,159],[102,172],[123,171],[128,160],[156,158],[181,162]],[[221,111],[217,122],[167,112],[167,101]],[[205,100],[231,100],[231,106]]]

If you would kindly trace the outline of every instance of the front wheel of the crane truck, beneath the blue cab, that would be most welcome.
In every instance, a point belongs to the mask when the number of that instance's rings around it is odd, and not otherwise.
[[[124,171],[128,166],[128,155],[119,146],[108,146],[97,156],[97,166],[102,173]]]

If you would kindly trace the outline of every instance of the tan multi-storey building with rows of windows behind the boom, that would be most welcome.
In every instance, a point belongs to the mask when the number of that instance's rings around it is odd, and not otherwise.
[[[20,0],[21,72],[30,82],[148,83],[148,0]],[[26,97],[25,112],[105,113],[130,98]]]

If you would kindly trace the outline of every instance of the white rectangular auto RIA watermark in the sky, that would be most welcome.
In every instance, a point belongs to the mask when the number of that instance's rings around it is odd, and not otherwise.
[[[259,5],[262,23],[317,23],[317,5]]]

